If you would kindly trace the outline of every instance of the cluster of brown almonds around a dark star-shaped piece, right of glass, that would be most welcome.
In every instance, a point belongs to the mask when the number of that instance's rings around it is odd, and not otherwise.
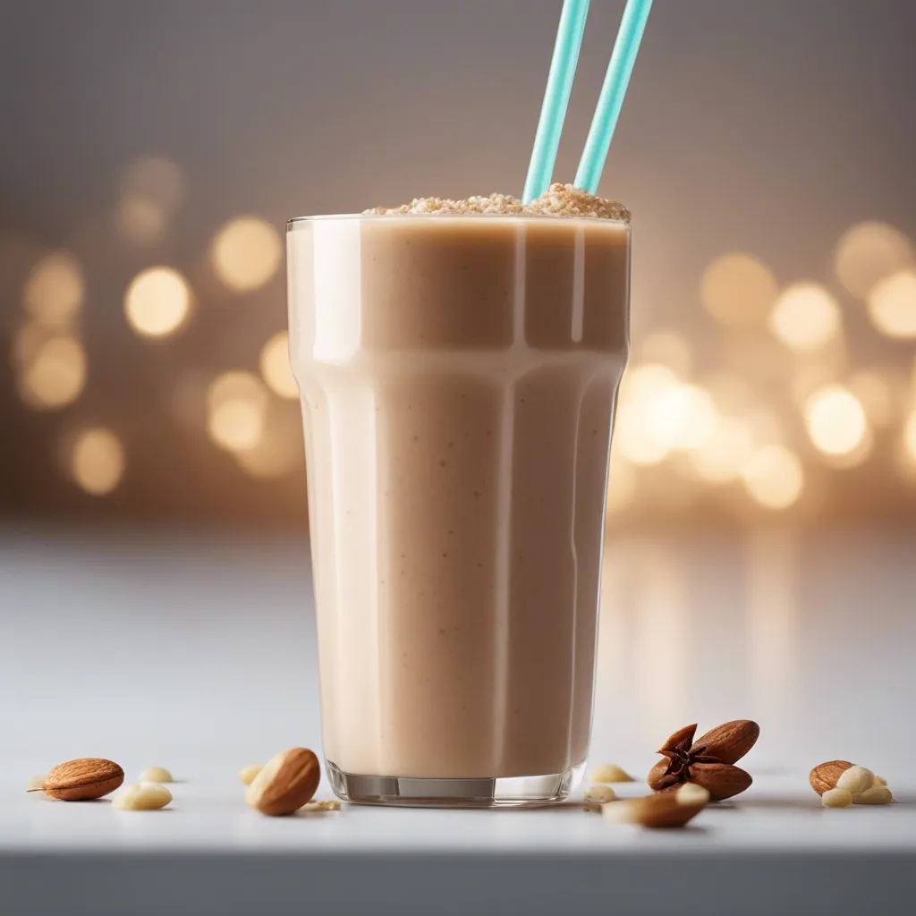
[[[760,726],[750,719],[726,722],[693,740],[696,725],[685,725],[660,747],[664,757],[649,771],[649,788],[657,792],[693,782],[714,802],[743,792],[754,781],[736,761],[754,747]]]

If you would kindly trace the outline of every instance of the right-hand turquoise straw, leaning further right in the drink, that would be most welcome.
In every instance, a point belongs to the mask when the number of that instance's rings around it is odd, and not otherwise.
[[[611,145],[617,118],[624,104],[624,95],[627,94],[630,74],[633,72],[639,42],[651,8],[652,0],[627,0],[627,8],[620,22],[611,62],[607,65],[605,84],[601,87],[598,107],[594,111],[579,170],[573,182],[577,188],[593,194],[598,190],[598,181],[605,168],[607,149]]]

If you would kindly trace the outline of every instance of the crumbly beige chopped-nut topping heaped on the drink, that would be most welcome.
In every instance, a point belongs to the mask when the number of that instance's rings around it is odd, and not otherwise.
[[[614,220],[629,224],[630,212],[619,201],[608,201],[571,184],[551,184],[547,191],[530,203],[522,203],[510,194],[490,194],[488,197],[468,197],[453,201],[443,197],[417,197],[399,207],[375,207],[366,210],[376,216],[406,216],[431,213],[442,216],[502,215],[502,216],[565,216]]]

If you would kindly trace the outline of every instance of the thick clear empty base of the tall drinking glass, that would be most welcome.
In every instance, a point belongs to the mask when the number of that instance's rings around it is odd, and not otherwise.
[[[325,766],[334,794],[344,802],[402,808],[518,808],[555,804],[569,796],[585,769],[583,761],[562,773],[546,776],[428,780],[346,773],[333,760],[326,760]]]

